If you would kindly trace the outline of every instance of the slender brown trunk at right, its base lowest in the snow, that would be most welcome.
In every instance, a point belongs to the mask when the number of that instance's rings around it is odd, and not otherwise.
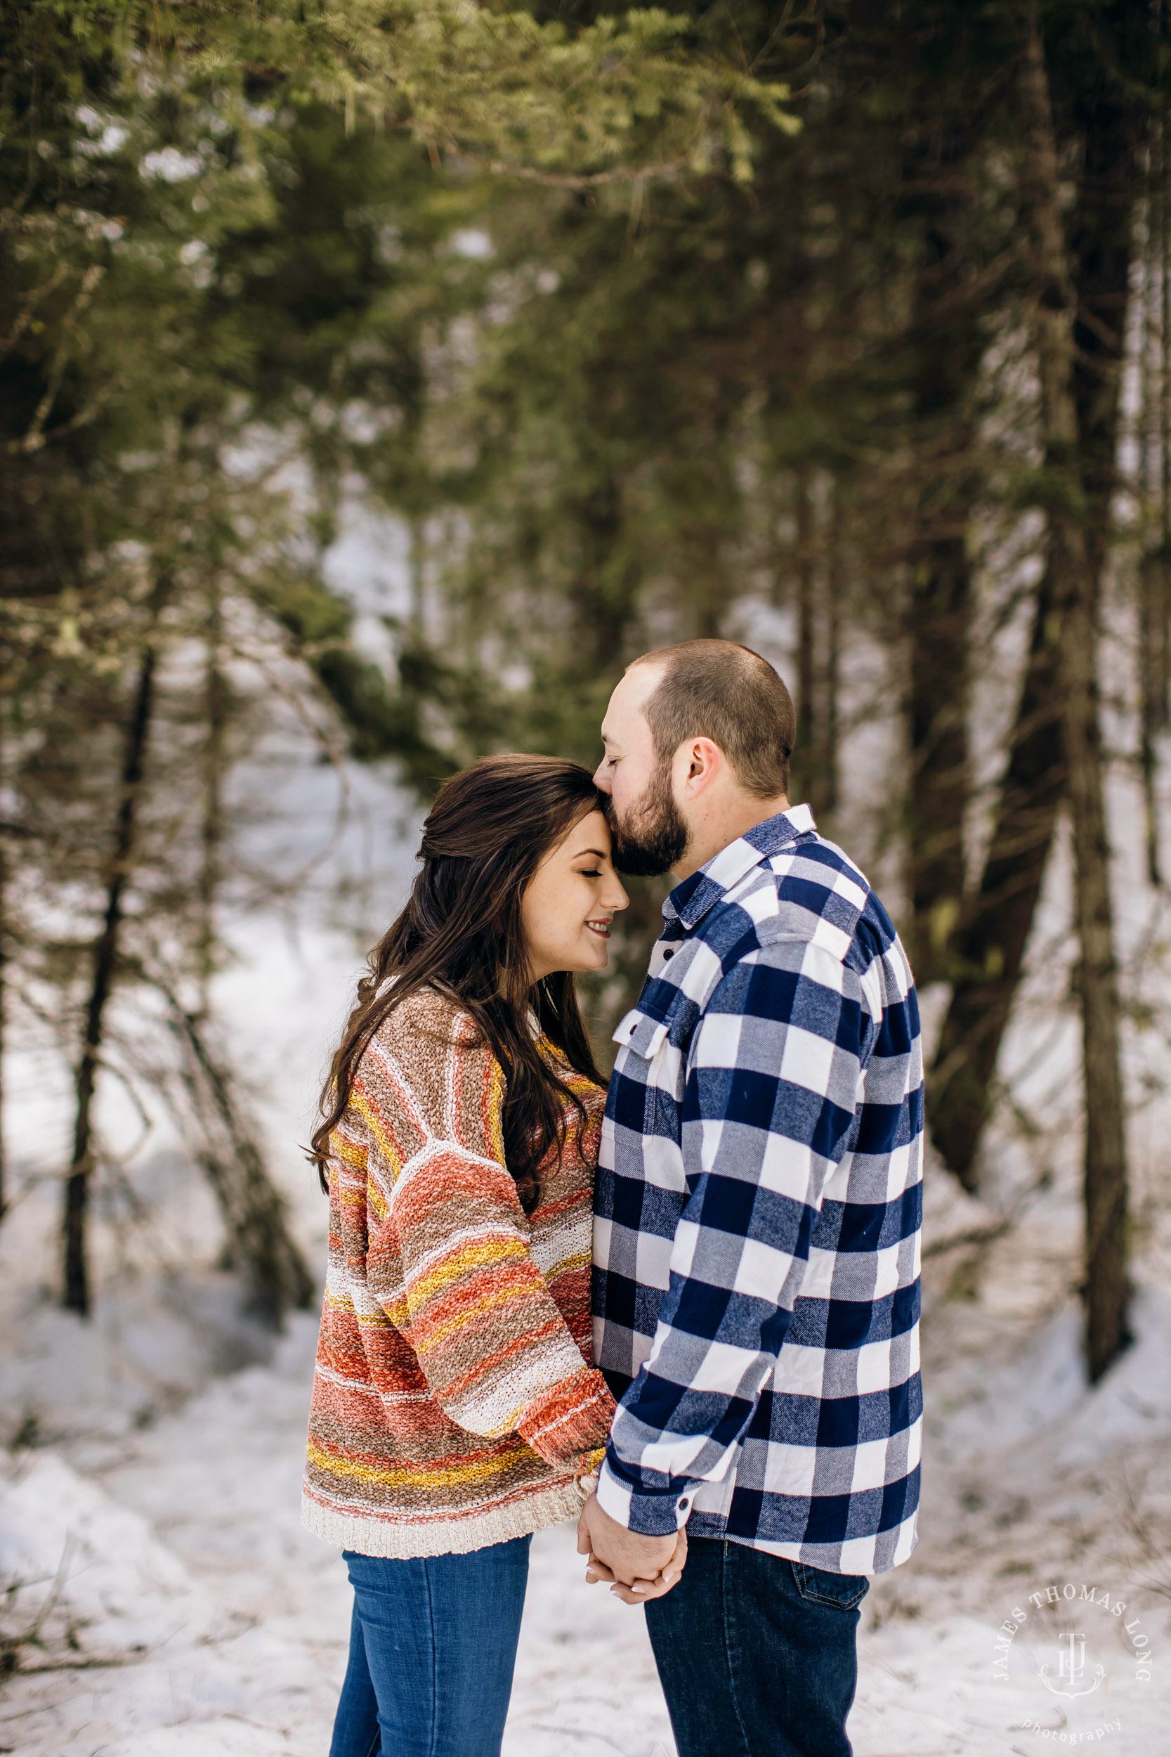
[[[1078,998],[1085,1089],[1087,1362],[1097,1379],[1125,1348],[1127,1167],[1110,850],[1097,719],[1097,571],[1080,517],[1074,399],[1076,293],[1060,216],[1057,148],[1036,9],[1022,65],[1025,206],[1038,269],[1036,348],[1041,437],[1052,492],[1050,573],[1059,615],[1057,669],[1074,850]]]

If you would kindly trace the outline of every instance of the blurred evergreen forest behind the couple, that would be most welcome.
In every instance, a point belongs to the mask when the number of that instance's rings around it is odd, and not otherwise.
[[[51,1197],[51,1298],[95,1311],[169,1117],[253,1311],[313,1307],[228,924],[355,777],[406,845],[722,634],[908,944],[948,1297],[1073,1154],[1101,1379],[1167,1205],[1166,0],[0,0],[0,1235]],[[284,863],[277,722],[337,778]],[[61,1161],[11,1126],[32,1051]]]

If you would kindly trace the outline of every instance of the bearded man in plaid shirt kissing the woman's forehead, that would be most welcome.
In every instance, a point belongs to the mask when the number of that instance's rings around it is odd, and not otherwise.
[[[764,659],[648,654],[602,738],[616,864],[678,884],[614,1031],[593,1339],[620,1407],[579,1550],[646,1602],[679,1757],[848,1757],[857,1606],[915,1548],[911,972],[788,805]]]

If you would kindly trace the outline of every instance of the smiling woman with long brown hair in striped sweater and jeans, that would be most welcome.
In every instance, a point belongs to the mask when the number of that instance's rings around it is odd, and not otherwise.
[[[602,1079],[574,993],[627,894],[602,798],[485,757],[423,826],[321,1098],[304,1522],[355,1588],[330,1757],[497,1757],[535,1530],[613,1416],[590,1365]]]

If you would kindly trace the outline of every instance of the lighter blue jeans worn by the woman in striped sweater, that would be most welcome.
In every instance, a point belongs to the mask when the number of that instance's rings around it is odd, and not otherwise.
[[[344,1551],[353,1623],[330,1757],[500,1757],[530,1541],[409,1560]]]

